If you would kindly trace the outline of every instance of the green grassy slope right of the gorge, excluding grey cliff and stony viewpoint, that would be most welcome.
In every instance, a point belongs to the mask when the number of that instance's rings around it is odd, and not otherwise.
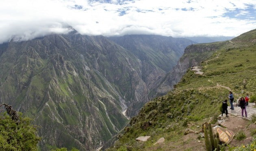
[[[195,74],[188,69],[172,91],[143,106],[139,115],[131,119],[131,126],[120,134],[115,147],[108,151],[120,147],[132,151],[200,150],[194,145],[193,138],[184,139],[187,123],[192,121],[200,125],[219,115],[219,106],[228,97],[229,88],[234,91],[235,98],[246,93],[256,94],[255,32],[242,34],[231,42],[204,44],[217,48],[215,52],[209,52],[213,54],[200,64],[204,74]],[[193,51],[184,55],[198,57]],[[147,142],[135,140],[146,135],[151,136]],[[153,145],[161,137],[165,138],[165,144]],[[204,143],[201,149],[204,149]]]

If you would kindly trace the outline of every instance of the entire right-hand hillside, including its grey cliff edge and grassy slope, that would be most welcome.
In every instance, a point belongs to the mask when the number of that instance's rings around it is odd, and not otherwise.
[[[256,29],[231,40],[188,46],[177,65],[154,89],[160,97],[146,103],[139,114],[131,118],[130,125],[118,134],[117,141],[107,151],[206,150],[202,136],[207,134],[202,132],[205,122],[233,130],[234,140],[228,145],[219,145],[221,150],[253,147],[255,114],[250,119],[243,119],[238,113],[225,119],[221,117],[220,108],[228,99],[229,91],[233,92],[235,100],[247,94],[255,97],[255,60]],[[172,90],[165,94],[167,89]],[[249,112],[253,114],[252,110]],[[218,121],[218,117],[226,120],[226,125],[223,120]],[[238,138],[241,133],[245,140]],[[135,140],[140,136],[147,136],[148,140]],[[158,143],[158,140],[162,142]]]

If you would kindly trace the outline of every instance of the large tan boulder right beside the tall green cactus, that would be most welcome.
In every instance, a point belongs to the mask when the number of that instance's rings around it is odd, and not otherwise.
[[[220,126],[215,126],[213,128],[213,132],[216,134],[217,132],[219,133],[219,140],[223,143],[230,143],[231,140],[234,138],[234,132],[231,130],[228,130],[226,128],[222,128]]]

